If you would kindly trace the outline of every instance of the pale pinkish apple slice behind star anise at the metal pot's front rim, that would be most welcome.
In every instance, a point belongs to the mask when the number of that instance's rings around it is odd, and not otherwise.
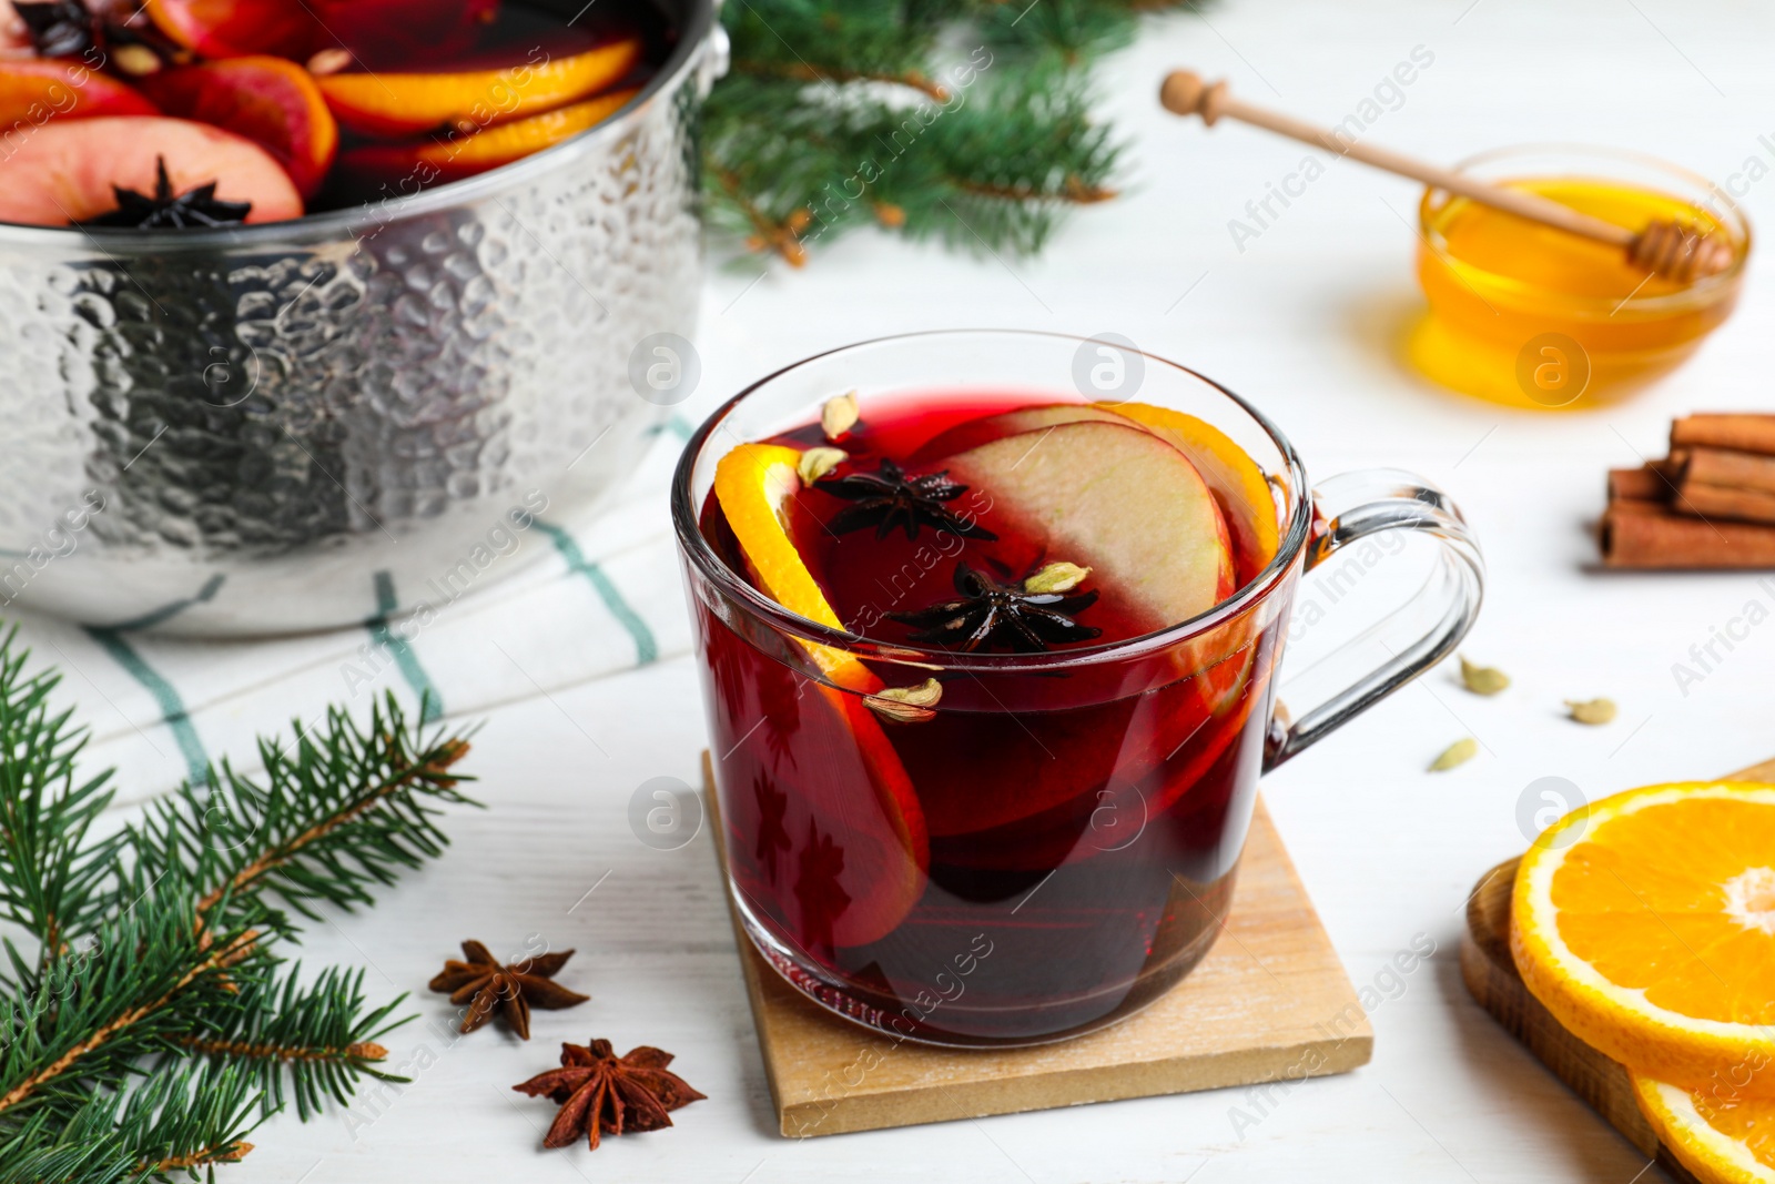
[[[217,183],[222,201],[252,202],[247,222],[302,217],[302,195],[263,147],[209,124],[162,115],[48,122],[0,156],[0,222],[67,225],[117,208],[112,186],[154,192],[165,158],[178,193]]]

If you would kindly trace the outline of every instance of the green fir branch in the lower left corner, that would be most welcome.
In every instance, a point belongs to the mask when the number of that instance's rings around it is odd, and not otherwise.
[[[272,946],[275,907],[371,904],[437,856],[437,817],[472,804],[462,737],[426,735],[389,698],[364,726],[332,710],[291,747],[259,744],[261,777],[224,765],[121,834],[94,840],[106,776],[78,779],[85,733],[50,706],[0,635],[0,1184],[193,1177],[250,1150],[261,1118],[344,1102],[376,1069],[401,999],[369,1006],[364,976],[300,985]],[[405,998],[405,996],[403,996]],[[197,1065],[199,1069],[193,1069]]]

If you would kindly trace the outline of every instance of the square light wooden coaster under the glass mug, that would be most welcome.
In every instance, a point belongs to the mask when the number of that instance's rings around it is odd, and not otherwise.
[[[706,754],[703,774],[721,857]],[[1349,1072],[1374,1053],[1369,1017],[1262,802],[1232,918],[1202,964],[1145,1012],[1063,1044],[896,1042],[809,1001],[753,948],[737,914],[733,928],[770,1097],[792,1138],[1299,1081]]]

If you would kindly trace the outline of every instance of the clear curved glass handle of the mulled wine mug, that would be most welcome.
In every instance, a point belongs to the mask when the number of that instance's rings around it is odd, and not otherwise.
[[[1294,722],[1282,715],[1273,719],[1264,746],[1266,772],[1448,657],[1471,628],[1486,593],[1479,540],[1448,495],[1424,478],[1397,469],[1345,472],[1314,490],[1314,509],[1317,522],[1306,545],[1306,572],[1386,531],[1422,531],[1441,543],[1441,554],[1411,600],[1315,662],[1315,669],[1342,669],[1358,648],[1376,639],[1392,653],[1377,669],[1356,676]]]

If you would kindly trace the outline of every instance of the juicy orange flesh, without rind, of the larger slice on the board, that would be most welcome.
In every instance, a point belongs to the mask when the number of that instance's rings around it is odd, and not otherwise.
[[[1647,806],[1598,825],[1553,873],[1558,934],[1605,978],[1642,989],[1656,1006],[1770,1024],[1775,872],[1766,893],[1755,886],[1771,864],[1775,806]]]

